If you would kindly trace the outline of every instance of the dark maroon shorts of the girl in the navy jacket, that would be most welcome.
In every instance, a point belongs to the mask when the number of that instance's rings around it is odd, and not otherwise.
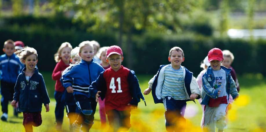
[[[23,125],[32,124],[34,127],[38,127],[42,123],[41,111],[38,112],[23,112]]]

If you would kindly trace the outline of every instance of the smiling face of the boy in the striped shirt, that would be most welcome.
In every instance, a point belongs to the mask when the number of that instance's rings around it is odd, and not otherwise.
[[[171,56],[168,57],[168,61],[171,62],[174,69],[179,69],[181,63],[184,62],[185,58],[182,56],[181,51],[173,50]]]

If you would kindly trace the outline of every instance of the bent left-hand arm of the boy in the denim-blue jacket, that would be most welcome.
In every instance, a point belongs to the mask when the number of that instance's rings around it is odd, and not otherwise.
[[[211,79],[211,78],[209,77],[209,79]],[[201,89],[203,89],[208,96],[210,96],[211,98],[214,98],[214,99],[218,98],[218,95],[220,94],[220,91],[215,90],[213,87],[211,87],[211,85],[209,84],[205,75],[202,76]],[[201,91],[201,92],[203,92],[203,91]]]

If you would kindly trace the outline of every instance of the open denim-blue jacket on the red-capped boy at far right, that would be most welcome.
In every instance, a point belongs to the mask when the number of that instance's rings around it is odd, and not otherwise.
[[[226,93],[227,93],[227,102],[229,101],[229,94],[232,95],[233,99],[235,99],[239,94],[236,90],[236,84],[231,76],[230,71],[231,68],[226,68],[221,66],[221,69],[225,70],[226,73]],[[201,87],[201,95],[202,101],[201,105],[209,105],[210,98],[218,98],[218,90],[213,88],[213,83],[215,81],[214,74],[212,73],[212,67],[209,66],[207,71],[202,76],[202,87]]]

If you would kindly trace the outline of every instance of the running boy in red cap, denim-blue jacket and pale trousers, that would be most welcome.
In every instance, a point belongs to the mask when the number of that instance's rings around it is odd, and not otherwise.
[[[222,132],[226,127],[225,114],[229,94],[238,98],[235,82],[230,74],[231,69],[221,66],[223,62],[221,49],[213,48],[208,53],[210,66],[202,77],[202,101],[205,105],[203,128],[215,132],[215,127]]]

